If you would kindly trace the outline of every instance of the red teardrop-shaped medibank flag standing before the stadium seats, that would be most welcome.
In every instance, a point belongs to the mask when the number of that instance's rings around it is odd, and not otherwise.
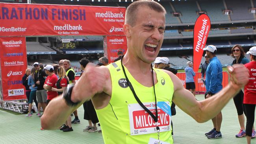
[[[211,21],[208,15],[200,15],[195,22],[194,28],[193,69],[195,72],[198,72],[210,28]]]

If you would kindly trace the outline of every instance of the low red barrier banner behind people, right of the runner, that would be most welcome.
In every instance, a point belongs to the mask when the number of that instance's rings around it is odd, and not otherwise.
[[[222,72],[222,75],[223,75],[222,86],[226,87],[226,85],[228,85],[228,82],[229,82],[228,72]],[[182,82],[182,85],[186,88],[186,73],[185,72],[177,73],[176,76],[178,76],[178,78]],[[201,80],[200,72],[196,72],[195,85],[196,85],[196,92],[205,92],[206,91],[205,85]]]

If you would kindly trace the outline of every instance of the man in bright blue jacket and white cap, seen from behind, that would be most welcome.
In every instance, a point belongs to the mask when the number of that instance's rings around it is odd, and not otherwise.
[[[217,49],[213,45],[209,45],[203,50],[206,51],[207,57],[210,58],[210,63],[206,70],[206,98],[210,98],[222,89],[222,66],[219,59],[216,57]],[[213,122],[213,129],[205,133],[207,138],[221,138],[221,112],[211,119]]]

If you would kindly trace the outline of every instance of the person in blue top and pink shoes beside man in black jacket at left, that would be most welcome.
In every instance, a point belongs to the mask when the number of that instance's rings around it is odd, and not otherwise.
[[[28,77],[28,86],[30,86],[31,92],[29,96],[29,104],[28,104],[28,114],[26,114],[26,117],[31,117],[32,113],[32,102],[34,100],[35,103],[37,103],[37,98],[36,98],[36,91],[37,87],[35,87],[35,68],[31,69],[31,74]]]

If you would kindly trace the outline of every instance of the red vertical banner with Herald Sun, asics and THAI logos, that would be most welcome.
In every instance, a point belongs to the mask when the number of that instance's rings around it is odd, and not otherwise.
[[[26,99],[22,76],[27,68],[26,38],[0,38],[3,100]]]

